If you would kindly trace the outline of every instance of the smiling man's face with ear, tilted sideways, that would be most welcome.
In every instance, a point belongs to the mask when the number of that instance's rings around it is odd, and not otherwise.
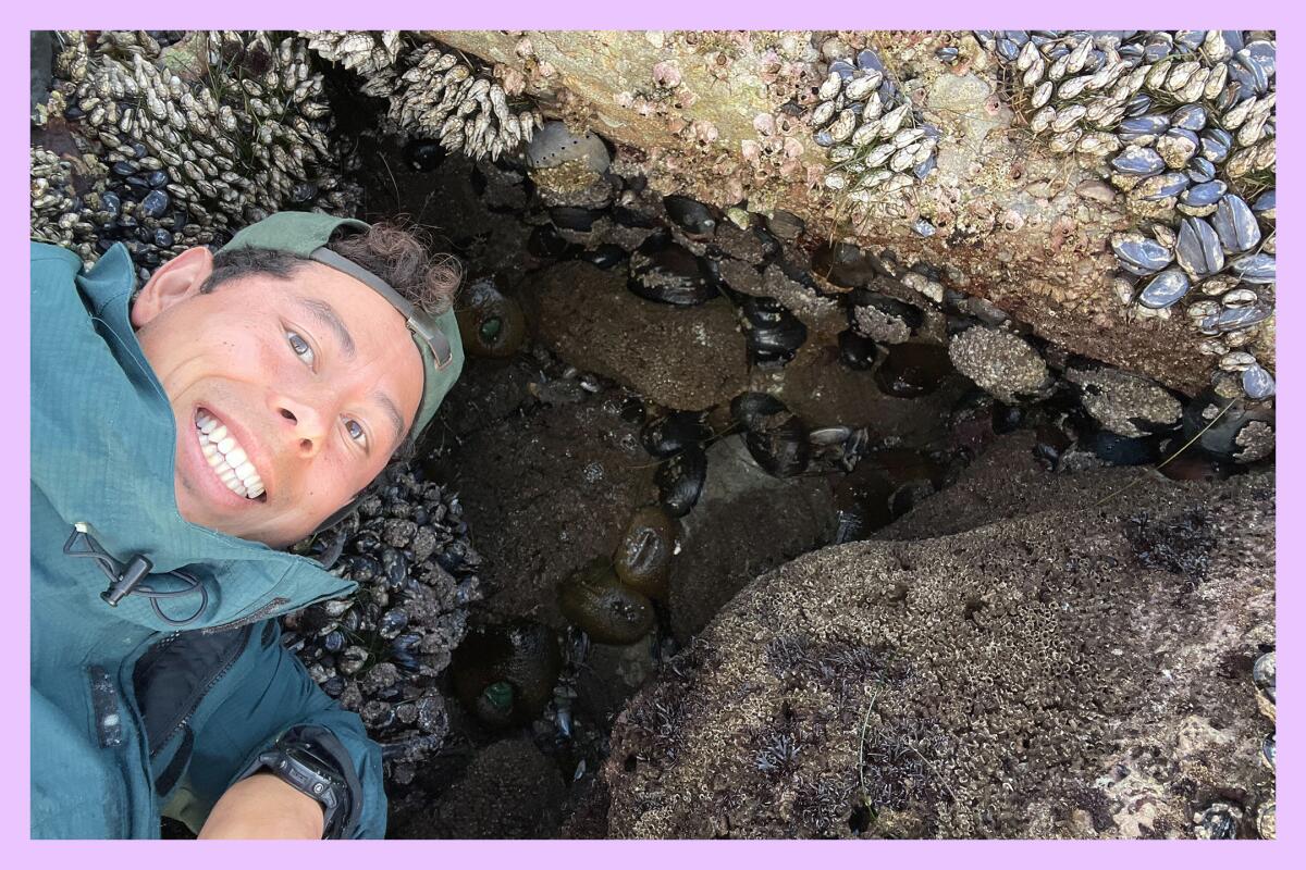
[[[188,250],[132,307],[176,417],[178,509],[285,547],[385,467],[417,416],[422,356],[389,303],[321,263],[201,293],[209,273],[209,252]]]

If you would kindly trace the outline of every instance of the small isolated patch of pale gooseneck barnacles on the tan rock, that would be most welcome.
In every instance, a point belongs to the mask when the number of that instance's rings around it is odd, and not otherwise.
[[[919,113],[870,48],[836,60],[811,113],[816,145],[835,164],[825,187],[852,202],[908,188],[934,168],[939,130]]]

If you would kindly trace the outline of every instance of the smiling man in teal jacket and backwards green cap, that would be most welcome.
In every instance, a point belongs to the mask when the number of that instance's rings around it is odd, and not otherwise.
[[[434,417],[456,269],[282,213],[136,295],[121,245],[31,270],[33,836],[381,836],[380,749],[276,622],[353,583],[282,548]]]

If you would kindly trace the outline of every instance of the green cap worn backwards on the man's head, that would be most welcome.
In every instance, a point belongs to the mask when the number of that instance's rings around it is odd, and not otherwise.
[[[439,317],[428,314],[404,299],[377,275],[329,249],[326,243],[341,228],[363,232],[371,227],[354,218],[334,218],[316,211],[278,211],[240,230],[222,250],[264,248],[320,262],[363,282],[404,314],[413,343],[422,353],[426,378],[422,385],[422,403],[413,423],[414,437],[421,436],[435,419],[436,410],[462,372],[462,338],[458,335],[458,321],[452,308]]]

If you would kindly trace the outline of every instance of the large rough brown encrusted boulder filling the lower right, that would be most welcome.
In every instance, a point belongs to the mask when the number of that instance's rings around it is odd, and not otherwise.
[[[1140,472],[1029,447],[737,596],[619,717],[609,835],[1192,837],[1228,801],[1255,836],[1273,477],[1097,505]]]

